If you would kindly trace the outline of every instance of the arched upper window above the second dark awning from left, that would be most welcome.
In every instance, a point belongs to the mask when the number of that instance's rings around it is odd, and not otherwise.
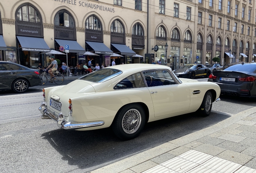
[[[66,26],[66,27],[73,27],[74,28],[74,20],[72,17],[64,12],[61,11],[55,16],[54,24],[56,26]]]

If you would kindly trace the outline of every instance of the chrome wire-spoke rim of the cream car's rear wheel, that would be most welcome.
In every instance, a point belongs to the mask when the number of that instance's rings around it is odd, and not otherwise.
[[[138,130],[141,123],[141,115],[137,109],[127,111],[122,120],[122,128],[124,132],[132,134]]]

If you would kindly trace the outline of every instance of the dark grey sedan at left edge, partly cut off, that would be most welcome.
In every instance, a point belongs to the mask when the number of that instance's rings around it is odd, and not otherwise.
[[[39,70],[9,61],[0,61],[0,90],[24,93],[29,87],[40,85]]]

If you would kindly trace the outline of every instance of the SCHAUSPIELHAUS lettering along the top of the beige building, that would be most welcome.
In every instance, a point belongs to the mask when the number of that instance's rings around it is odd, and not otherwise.
[[[78,5],[78,6],[82,6],[85,8],[91,8],[91,9],[95,9],[95,10],[115,12],[114,8],[97,5],[97,4],[89,3],[86,1],[78,1],[78,0],[53,0],[53,1],[62,2],[65,4],[70,4],[70,5]]]

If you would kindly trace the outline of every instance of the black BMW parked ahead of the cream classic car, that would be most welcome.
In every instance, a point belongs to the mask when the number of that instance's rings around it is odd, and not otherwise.
[[[218,84],[222,95],[256,97],[256,63],[227,64],[213,72],[208,81]]]

